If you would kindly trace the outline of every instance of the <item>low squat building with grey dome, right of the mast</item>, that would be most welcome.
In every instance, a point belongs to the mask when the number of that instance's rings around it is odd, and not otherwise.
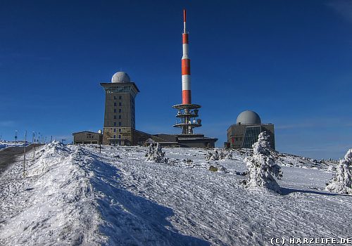
[[[267,132],[271,148],[275,150],[274,124],[262,124],[260,116],[256,112],[246,110],[237,116],[236,124],[232,124],[227,129],[225,145],[227,148],[252,148],[262,131]]]

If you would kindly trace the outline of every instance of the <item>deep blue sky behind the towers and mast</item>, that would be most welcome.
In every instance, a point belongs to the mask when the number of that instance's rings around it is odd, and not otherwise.
[[[182,8],[192,101],[226,141],[243,110],[275,124],[277,150],[339,158],[352,147],[352,1],[2,1],[0,134],[72,141],[103,126],[120,70],[139,86],[136,128],[178,133]]]

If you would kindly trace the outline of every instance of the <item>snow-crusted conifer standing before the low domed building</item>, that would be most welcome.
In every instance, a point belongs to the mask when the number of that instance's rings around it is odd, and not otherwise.
[[[245,182],[246,186],[250,188],[268,188],[280,193],[279,184],[274,179],[274,176],[280,179],[282,171],[275,164],[275,160],[270,154],[270,143],[265,131],[259,134],[258,141],[252,147],[253,155],[244,159],[249,169],[249,178]]]

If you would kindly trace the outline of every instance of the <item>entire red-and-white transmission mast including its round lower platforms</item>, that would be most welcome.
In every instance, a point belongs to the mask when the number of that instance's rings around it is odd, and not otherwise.
[[[174,105],[178,118],[174,127],[182,128],[182,134],[192,135],[195,127],[201,127],[198,112],[201,105],[191,103],[191,60],[188,56],[188,33],[186,30],[186,10],[183,10],[182,32],[182,104]]]

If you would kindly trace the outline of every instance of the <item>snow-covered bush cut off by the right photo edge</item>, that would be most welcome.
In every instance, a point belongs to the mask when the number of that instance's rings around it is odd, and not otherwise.
[[[347,151],[344,159],[339,161],[337,172],[327,183],[325,190],[340,194],[352,195],[352,148]]]

